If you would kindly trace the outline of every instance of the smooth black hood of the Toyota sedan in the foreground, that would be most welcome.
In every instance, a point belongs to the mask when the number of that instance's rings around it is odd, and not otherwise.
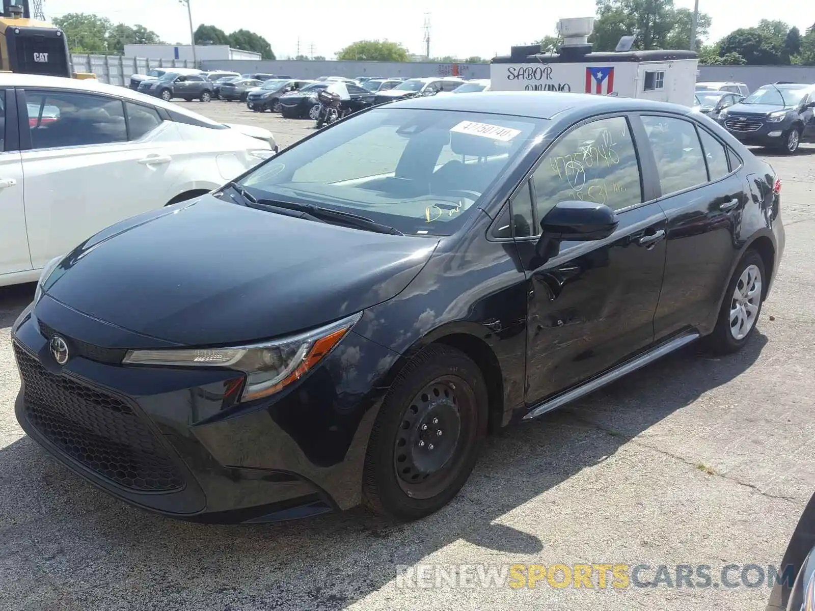
[[[240,344],[389,300],[436,244],[207,195],[108,227],[66,257],[67,270],[46,282],[46,292],[82,314],[158,340]]]

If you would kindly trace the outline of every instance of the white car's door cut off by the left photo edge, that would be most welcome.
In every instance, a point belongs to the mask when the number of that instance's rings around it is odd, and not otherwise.
[[[14,90],[0,89],[0,285],[2,275],[32,269],[16,107]]]

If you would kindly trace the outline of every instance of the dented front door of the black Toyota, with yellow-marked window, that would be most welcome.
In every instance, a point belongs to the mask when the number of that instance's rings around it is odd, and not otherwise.
[[[617,211],[606,240],[563,242],[548,261],[535,240],[519,240],[527,268],[527,403],[534,405],[646,349],[665,262],[666,218],[643,203],[637,151],[624,116],[579,125],[541,160],[532,177],[535,226],[566,200]],[[540,232],[540,231],[539,231]]]

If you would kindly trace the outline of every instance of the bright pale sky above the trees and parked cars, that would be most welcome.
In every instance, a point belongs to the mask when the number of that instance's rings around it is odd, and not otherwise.
[[[367,0],[311,0],[311,2],[263,2],[261,0],[191,0],[192,18],[216,24],[231,32],[253,30],[271,43],[275,55],[300,51],[329,59],[343,46],[363,38],[400,42],[412,53],[423,51],[424,13],[431,11],[430,54],[492,55],[509,52],[513,44],[532,42],[554,33],[561,17],[594,14],[594,0],[571,0],[568,11],[548,8],[547,0],[443,0],[443,2],[368,2]],[[693,8],[694,0],[676,0],[677,7]],[[800,0],[700,0],[700,10],[713,17],[711,38],[731,30],[755,25],[761,19],[785,20],[802,31],[815,21],[815,12],[802,10]],[[496,10],[496,6],[501,7]],[[225,10],[224,7],[227,7]],[[432,9],[430,8],[432,7]],[[67,12],[104,15],[114,22],[143,24],[167,42],[188,42],[187,8],[178,0],[45,0],[46,17]],[[812,21],[807,21],[812,20]]]

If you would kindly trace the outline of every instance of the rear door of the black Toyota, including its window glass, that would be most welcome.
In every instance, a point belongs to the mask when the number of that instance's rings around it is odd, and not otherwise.
[[[654,317],[656,341],[715,317],[737,254],[748,195],[725,143],[681,116],[642,115],[667,215],[665,280]]]

